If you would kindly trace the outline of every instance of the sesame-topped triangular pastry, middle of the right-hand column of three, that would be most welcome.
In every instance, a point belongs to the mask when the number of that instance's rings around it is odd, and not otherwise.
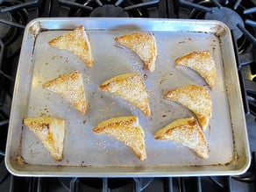
[[[212,112],[209,89],[198,85],[188,85],[179,89],[169,90],[164,97],[181,103],[189,110],[192,110],[196,114],[203,131],[206,130],[210,124]]]

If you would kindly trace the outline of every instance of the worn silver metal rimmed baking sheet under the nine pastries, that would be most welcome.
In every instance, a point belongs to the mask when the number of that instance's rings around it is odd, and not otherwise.
[[[74,54],[47,44],[50,39],[78,25],[84,25],[89,35],[95,60],[93,68],[86,67]],[[153,73],[143,68],[138,56],[113,40],[138,31],[153,32],[155,35],[159,56]],[[168,89],[188,84],[206,86],[203,78],[192,70],[174,67],[174,60],[181,55],[203,50],[210,50],[217,63],[216,87],[210,90],[213,113],[210,129],[205,132],[210,147],[208,160],[198,158],[185,146],[153,139],[153,133],[171,121],[193,116],[180,104],[165,100],[162,94]],[[75,70],[83,75],[89,99],[90,110],[86,115],[79,114],[60,96],[42,89],[43,82]],[[144,117],[124,99],[98,89],[110,77],[132,71],[139,72],[145,79],[153,117]],[[39,18],[25,30],[11,110],[6,165],[12,174],[18,175],[241,174],[250,161],[242,107],[231,34],[220,22]],[[54,161],[39,139],[22,126],[23,118],[41,115],[60,117],[66,121],[64,159],[60,162]],[[146,132],[145,161],[139,160],[117,139],[92,132],[93,126],[103,120],[130,115],[139,117],[139,124]],[[25,164],[17,163],[17,157],[22,157]],[[38,172],[35,167],[45,171]],[[53,172],[51,167],[59,169]]]

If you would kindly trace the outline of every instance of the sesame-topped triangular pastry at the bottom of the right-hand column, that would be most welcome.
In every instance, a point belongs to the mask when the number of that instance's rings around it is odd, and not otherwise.
[[[209,147],[207,139],[195,117],[181,118],[168,124],[154,134],[155,139],[172,140],[188,146],[199,157],[209,158]]]

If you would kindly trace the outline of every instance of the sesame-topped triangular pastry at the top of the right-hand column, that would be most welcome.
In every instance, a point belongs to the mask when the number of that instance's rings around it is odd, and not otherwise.
[[[217,67],[210,51],[192,52],[175,60],[175,65],[194,69],[212,89],[217,78]]]

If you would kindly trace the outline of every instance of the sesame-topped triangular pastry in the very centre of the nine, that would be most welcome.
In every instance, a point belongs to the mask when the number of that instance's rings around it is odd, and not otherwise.
[[[152,115],[146,87],[139,73],[135,72],[114,76],[110,80],[103,82],[99,88],[123,97],[138,107],[147,117]]]

